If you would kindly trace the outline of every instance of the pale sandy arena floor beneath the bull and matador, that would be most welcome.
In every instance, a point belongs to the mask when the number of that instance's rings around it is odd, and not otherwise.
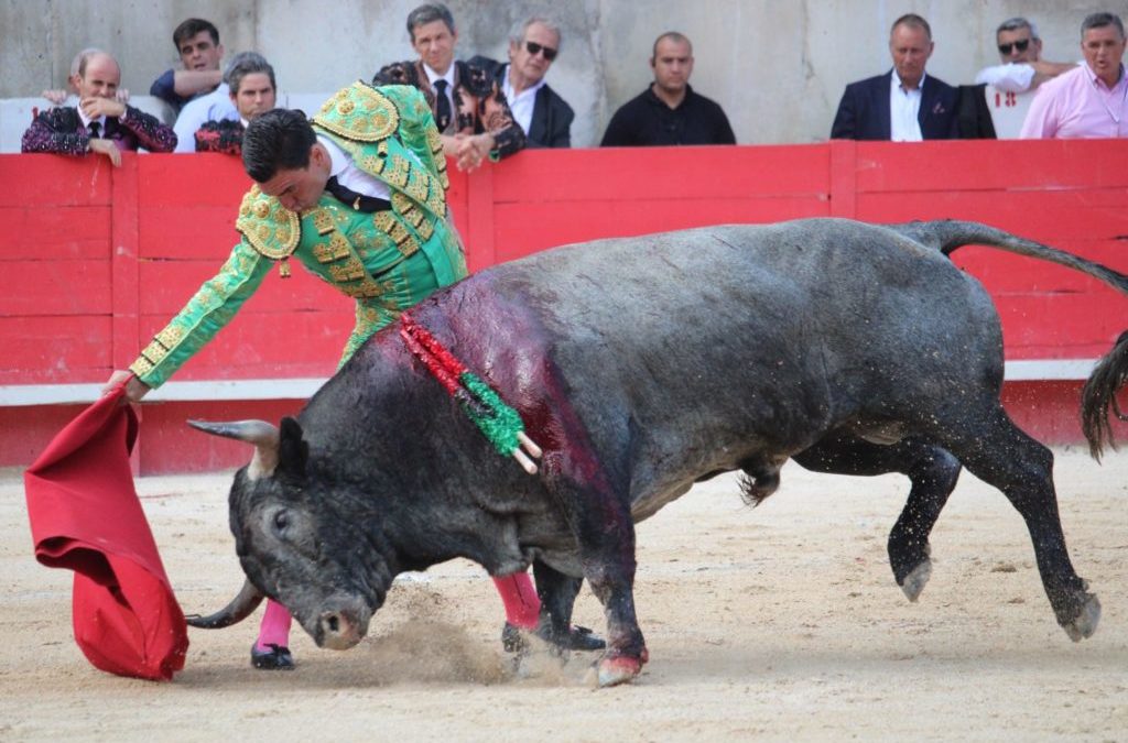
[[[71,638],[71,575],[34,560],[23,481],[8,471],[0,741],[1128,740],[1128,452],[1103,466],[1056,453],[1073,561],[1104,609],[1092,639],[1058,628],[1022,520],[967,472],[914,604],[885,557],[907,480],[792,463],[759,508],[724,477],[640,525],[651,662],[633,685],[599,691],[578,654],[515,674],[501,602],[467,561],[398,581],[352,651],[318,649],[297,630],[292,673],[249,666],[256,614],[193,630],[173,683],[107,675]],[[243,581],[229,481],[139,483],[186,611],[218,609]],[[602,631],[587,590],[576,621]]]

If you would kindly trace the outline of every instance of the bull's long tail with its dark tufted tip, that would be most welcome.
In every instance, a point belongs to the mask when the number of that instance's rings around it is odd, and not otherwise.
[[[944,220],[896,224],[891,225],[891,229],[922,245],[940,250],[945,256],[964,245],[986,245],[1079,271],[1103,281],[1123,294],[1128,294],[1128,275],[1065,250],[1026,240],[987,224]],[[1082,392],[1082,430],[1085,433],[1085,439],[1089,440],[1090,452],[1098,460],[1101,458],[1105,444],[1116,449],[1116,440],[1112,436],[1112,426],[1109,422],[1110,412],[1121,421],[1128,421],[1128,416],[1125,416],[1120,410],[1116,398],[1117,391],[1126,383],[1128,383],[1128,331],[1120,335],[1112,350],[1096,364]]]

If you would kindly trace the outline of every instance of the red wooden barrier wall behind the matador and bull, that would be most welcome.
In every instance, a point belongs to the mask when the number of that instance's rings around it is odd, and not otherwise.
[[[601,237],[847,216],[980,220],[1128,273],[1126,166],[1128,141],[528,151],[452,171],[450,203],[472,269]],[[222,156],[126,156],[120,169],[0,156],[0,466],[19,466],[80,409],[28,406],[23,391],[100,383],[127,365],[226,258],[249,179]],[[995,298],[1008,361],[1096,359],[1128,325],[1125,298],[1075,272],[984,248],[957,263]],[[299,268],[268,280],[170,384],[328,377],[351,327],[351,302]],[[1006,403],[1043,441],[1078,441],[1078,386],[1008,383]],[[147,404],[140,470],[241,463],[238,444],[183,421],[270,419],[300,405]]]

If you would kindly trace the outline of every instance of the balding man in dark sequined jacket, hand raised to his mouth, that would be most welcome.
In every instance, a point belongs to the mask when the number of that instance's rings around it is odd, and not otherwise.
[[[79,61],[78,106],[49,108],[24,132],[21,151],[85,154],[98,152],[114,166],[122,163],[121,150],[139,147],[152,152],[171,152],[176,134],[171,129],[133,106],[115,98],[122,71],[105,52],[94,52]]]

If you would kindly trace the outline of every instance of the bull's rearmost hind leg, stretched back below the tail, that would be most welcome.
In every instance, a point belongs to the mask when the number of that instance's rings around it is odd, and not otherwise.
[[[1091,636],[1101,604],[1069,561],[1050,450],[1020,431],[997,403],[982,419],[952,426],[945,444],[970,472],[1002,490],[1026,522],[1042,586],[1058,623],[1074,642]]]

